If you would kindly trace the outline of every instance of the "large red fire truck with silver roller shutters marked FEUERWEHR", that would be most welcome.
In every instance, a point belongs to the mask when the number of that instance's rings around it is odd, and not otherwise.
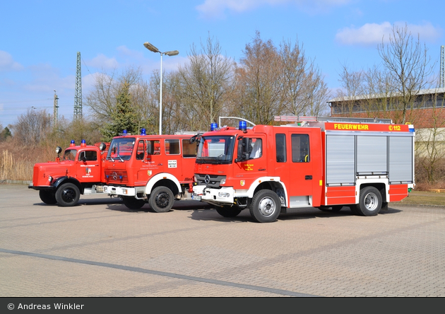
[[[292,124],[223,127],[198,139],[193,199],[221,216],[258,222],[316,207],[374,216],[414,188],[411,124],[340,117],[275,117]]]

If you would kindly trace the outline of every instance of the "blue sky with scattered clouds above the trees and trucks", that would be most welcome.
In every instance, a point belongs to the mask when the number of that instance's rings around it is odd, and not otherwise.
[[[343,66],[359,71],[381,63],[377,45],[393,25],[419,36],[439,75],[445,45],[443,0],[14,0],[0,1],[0,124],[29,110],[59,105],[73,119],[77,53],[81,53],[83,104],[97,73],[140,66],[144,79],[187,62],[192,45],[208,37],[239,62],[256,32],[278,47],[299,43],[330,91],[340,88]],[[88,108],[83,105],[83,115]]]

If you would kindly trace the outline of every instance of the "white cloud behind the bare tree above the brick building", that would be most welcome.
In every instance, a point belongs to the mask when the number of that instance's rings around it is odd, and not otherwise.
[[[405,27],[405,23],[396,22],[394,25]],[[420,35],[420,40],[432,41],[441,35],[441,28],[434,28],[431,23],[422,25],[408,24],[408,31],[413,37]],[[376,45],[381,44],[382,40],[388,42],[389,35],[393,25],[389,22],[381,24],[367,23],[356,28],[352,25],[350,28],[342,28],[336,34],[336,41],[344,45]]]

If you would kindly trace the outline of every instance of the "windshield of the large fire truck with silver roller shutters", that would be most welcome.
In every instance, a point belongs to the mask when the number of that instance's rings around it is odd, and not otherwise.
[[[203,136],[196,163],[232,163],[235,136]]]

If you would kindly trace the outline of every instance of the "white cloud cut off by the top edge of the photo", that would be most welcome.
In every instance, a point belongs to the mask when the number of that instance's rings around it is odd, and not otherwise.
[[[196,6],[203,18],[224,18],[225,11],[242,13],[260,6],[293,4],[303,11],[325,11],[332,6],[342,6],[351,0],[206,0]]]

